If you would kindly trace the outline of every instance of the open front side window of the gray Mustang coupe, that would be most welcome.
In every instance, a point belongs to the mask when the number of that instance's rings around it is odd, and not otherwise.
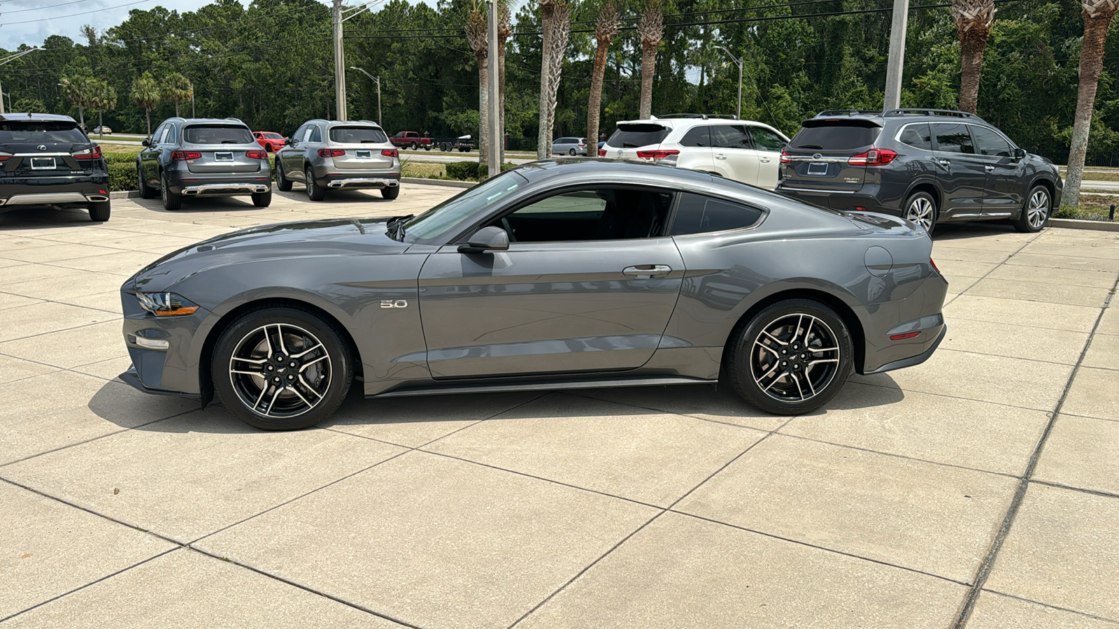
[[[490,225],[510,242],[620,241],[648,238],[664,231],[673,195],[638,188],[594,188],[553,195]]]

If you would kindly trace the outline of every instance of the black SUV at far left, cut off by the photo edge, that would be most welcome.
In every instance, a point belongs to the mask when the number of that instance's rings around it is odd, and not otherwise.
[[[101,147],[67,115],[0,114],[0,212],[84,207],[109,220],[109,169]]]

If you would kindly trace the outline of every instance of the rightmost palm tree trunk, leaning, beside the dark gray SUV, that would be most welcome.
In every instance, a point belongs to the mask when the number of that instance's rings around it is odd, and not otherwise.
[[[1064,180],[1064,203],[1080,204],[1080,180],[1084,175],[1084,156],[1088,152],[1088,131],[1092,125],[1096,107],[1096,88],[1103,69],[1103,45],[1108,27],[1119,9],[1117,0],[1082,0],[1084,39],[1080,45],[1080,88],[1076,91],[1076,114],[1072,119],[1072,143],[1069,147],[1069,175]]]

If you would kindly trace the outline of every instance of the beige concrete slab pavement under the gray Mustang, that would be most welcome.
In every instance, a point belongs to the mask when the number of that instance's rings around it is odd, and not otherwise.
[[[114,379],[143,264],[455,191],[0,214],[0,625],[1119,625],[1115,234],[943,227],[938,353],[799,417],[651,387],[354,396],[265,433]]]

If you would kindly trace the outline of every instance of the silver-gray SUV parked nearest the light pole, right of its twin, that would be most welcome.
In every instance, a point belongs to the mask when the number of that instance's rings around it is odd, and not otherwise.
[[[327,190],[378,188],[380,196],[401,194],[401,158],[385,131],[366,120],[309,120],[276,152],[276,187],[303,184],[311,200]]]

